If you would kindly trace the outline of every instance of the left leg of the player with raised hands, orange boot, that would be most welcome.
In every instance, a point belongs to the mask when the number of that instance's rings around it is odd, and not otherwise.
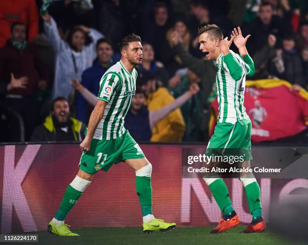
[[[206,154],[213,154],[214,152],[221,152],[223,148],[227,147],[228,142],[232,140],[234,125],[231,124],[217,124],[214,135],[211,137],[207,146]],[[232,202],[229,197],[228,189],[224,181],[218,176],[205,176],[205,183],[208,185],[218,207],[223,213],[223,217],[219,220],[218,225],[211,230],[210,233],[220,233],[229,228],[240,224],[241,220],[233,209]]]

